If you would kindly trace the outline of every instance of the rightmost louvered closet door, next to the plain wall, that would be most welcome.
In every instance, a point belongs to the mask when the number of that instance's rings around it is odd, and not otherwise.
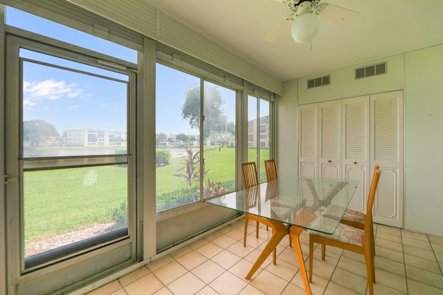
[[[370,97],[370,164],[380,164],[374,222],[403,227],[403,91]]]

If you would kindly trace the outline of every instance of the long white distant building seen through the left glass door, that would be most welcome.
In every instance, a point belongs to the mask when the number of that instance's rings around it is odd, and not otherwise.
[[[126,146],[127,133],[100,129],[70,129],[66,131],[68,146]]]

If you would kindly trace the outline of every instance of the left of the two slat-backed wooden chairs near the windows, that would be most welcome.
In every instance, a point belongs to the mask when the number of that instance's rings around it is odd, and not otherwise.
[[[242,163],[242,175],[243,175],[243,187],[244,189],[248,189],[250,187],[257,186],[259,184],[258,182],[258,175],[257,175],[257,168],[255,166],[255,162],[246,162]],[[255,199],[255,202],[257,200]],[[251,203],[252,202],[252,203]],[[249,206],[255,206],[255,203],[253,200],[248,200]],[[243,238],[243,246],[246,247],[246,236],[248,235],[248,221],[249,220],[255,220],[255,237],[258,238],[258,224],[259,222],[262,222],[263,220],[266,220],[265,218],[262,218],[260,216],[255,216],[253,214],[244,213],[244,238]],[[266,225],[266,230],[268,229]],[[275,265],[275,249],[273,251],[273,264]]]

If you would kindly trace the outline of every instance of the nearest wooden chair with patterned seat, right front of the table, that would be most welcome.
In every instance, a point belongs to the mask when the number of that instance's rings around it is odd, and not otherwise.
[[[368,272],[369,294],[374,294],[375,269],[374,253],[372,251],[373,229],[372,229],[372,204],[374,204],[375,191],[380,179],[380,166],[376,165],[374,176],[368,197],[368,214],[365,218],[364,229],[350,227],[339,223],[334,234],[327,235],[318,231],[309,231],[309,282],[312,283],[312,265],[314,260],[314,242],[321,245],[321,258],[325,260],[325,245],[338,247],[341,249],[353,251],[357,254],[363,254],[365,257],[366,271]]]

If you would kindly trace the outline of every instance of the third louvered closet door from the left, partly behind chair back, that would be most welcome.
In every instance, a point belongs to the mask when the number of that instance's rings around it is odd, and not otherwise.
[[[342,177],[359,180],[350,208],[365,213],[372,171],[369,166],[369,95],[343,99],[342,112]]]

